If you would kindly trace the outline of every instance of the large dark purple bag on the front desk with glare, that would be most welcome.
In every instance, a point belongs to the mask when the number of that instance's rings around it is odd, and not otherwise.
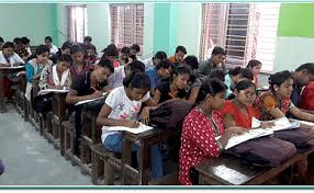
[[[289,141],[267,136],[239,144],[226,152],[254,166],[278,167],[295,155],[296,148]]]

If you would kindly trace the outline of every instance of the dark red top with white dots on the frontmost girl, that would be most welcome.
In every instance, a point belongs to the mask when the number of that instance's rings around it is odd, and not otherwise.
[[[217,125],[218,134],[224,134],[222,117],[213,112],[212,118]],[[192,185],[190,169],[208,158],[218,157],[220,148],[215,140],[215,127],[210,118],[199,110],[192,110],[183,122],[181,148],[179,152],[179,181],[183,185]]]

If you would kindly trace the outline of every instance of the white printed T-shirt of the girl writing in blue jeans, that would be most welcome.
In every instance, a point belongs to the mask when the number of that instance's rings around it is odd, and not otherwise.
[[[112,111],[109,114],[108,118],[112,120],[137,120],[138,113],[142,107],[142,103],[147,101],[150,98],[149,92],[139,100],[131,101],[124,90],[124,87],[119,87],[113,89],[105,99],[105,104],[109,105]],[[112,132],[106,129],[108,126],[102,127],[101,140],[104,143],[105,138],[109,135],[117,134],[119,132]]]

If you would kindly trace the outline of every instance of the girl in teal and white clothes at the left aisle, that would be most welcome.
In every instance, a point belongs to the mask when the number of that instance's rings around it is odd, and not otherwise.
[[[46,45],[40,45],[35,52],[35,58],[29,60],[25,64],[25,71],[26,71],[26,90],[25,90],[25,98],[31,101],[31,91],[33,89],[33,83],[38,84],[42,70],[46,66],[52,66],[53,61],[48,59],[49,57],[49,47]]]

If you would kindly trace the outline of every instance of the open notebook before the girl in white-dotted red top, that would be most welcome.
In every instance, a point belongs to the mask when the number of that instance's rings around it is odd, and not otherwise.
[[[263,136],[268,136],[272,134],[273,134],[272,130],[267,130],[262,128],[250,129],[242,135],[236,135],[236,136],[231,137],[225,149],[229,149],[236,145],[243,144],[250,139],[255,139],[255,138],[259,138],[259,137],[263,137]],[[218,138],[220,137],[216,137],[216,140]]]

